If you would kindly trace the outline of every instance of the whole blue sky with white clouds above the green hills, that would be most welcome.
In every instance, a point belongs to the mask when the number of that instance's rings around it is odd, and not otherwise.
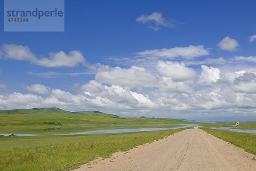
[[[256,120],[255,6],[65,0],[65,32],[2,24],[0,110]]]

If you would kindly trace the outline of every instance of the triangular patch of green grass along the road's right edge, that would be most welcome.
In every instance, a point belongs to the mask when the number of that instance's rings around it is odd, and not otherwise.
[[[224,141],[230,142],[237,147],[243,148],[244,150],[256,154],[256,134],[255,133],[241,133],[230,130],[215,130],[209,128],[201,128],[207,133],[212,134]]]

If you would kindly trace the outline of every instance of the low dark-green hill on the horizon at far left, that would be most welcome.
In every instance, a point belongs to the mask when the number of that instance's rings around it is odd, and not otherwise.
[[[62,110],[56,107],[44,107],[44,108],[33,108],[33,109],[13,109],[13,110],[0,110],[0,113],[13,113],[13,114],[42,114],[42,113],[70,113],[66,110]]]

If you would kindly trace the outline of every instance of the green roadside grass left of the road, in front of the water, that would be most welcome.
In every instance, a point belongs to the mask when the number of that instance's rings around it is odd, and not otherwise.
[[[1,171],[67,171],[188,128],[136,133],[0,137]]]

